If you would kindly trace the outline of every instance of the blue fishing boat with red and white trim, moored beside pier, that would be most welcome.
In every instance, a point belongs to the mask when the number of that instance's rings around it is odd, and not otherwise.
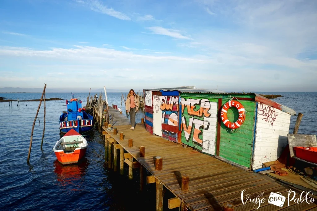
[[[81,100],[76,98],[66,100],[67,111],[62,112],[60,116],[60,130],[62,133],[67,133],[71,129],[78,133],[93,129],[93,117],[86,113],[86,109],[81,107],[81,103]]]

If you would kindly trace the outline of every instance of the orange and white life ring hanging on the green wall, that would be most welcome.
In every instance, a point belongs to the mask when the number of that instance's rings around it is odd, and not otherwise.
[[[230,122],[228,120],[227,112],[230,107],[235,107],[239,112],[239,118],[236,122]],[[224,126],[230,129],[239,128],[245,120],[245,109],[243,105],[239,101],[236,101],[236,100],[229,100],[228,102],[226,102],[223,105],[220,114],[221,114],[221,120],[223,121]]]

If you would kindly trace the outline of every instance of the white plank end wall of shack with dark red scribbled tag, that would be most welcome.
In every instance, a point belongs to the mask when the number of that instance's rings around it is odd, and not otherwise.
[[[277,160],[287,145],[291,115],[258,103],[252,170]]]

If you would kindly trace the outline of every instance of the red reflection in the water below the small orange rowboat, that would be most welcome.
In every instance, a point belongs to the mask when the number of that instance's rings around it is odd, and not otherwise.
[[[71,165],[62,165],[58,160],[54,161],[54,173],[57,181],[61,186],[76,185],[86,174],[89,162],[86,157],[82,158],[79,163]],[[75,184],[76,183],[76,184]]]

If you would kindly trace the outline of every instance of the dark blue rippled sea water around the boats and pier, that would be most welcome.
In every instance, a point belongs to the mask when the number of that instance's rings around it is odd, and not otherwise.
[[[125,93],[126,94],[126,93]],[[271,94],[271,93],[267,93]],[[317,133],[317,112],[314,102],[317,92],[273,93],[284,97],[274,99],[282,105],[304,114],[299,133]],[[86,105],[88,93],[74,93]],[[120,108],[121,93],[108,93],[110,105]],[[0,93],[10,99],[39,99],[41,93]],[[46,98],[70,99],[70,93],[46,93]],[[30,158],[27,162],[32,124],[39,102],[0,103],[2,124],[0,127],[0,210],[155,210],[155,184],[146,185],[139,193],[138,172],[134,179],[108,170],[104,163],[104,142],[100,133],[87,135],[85,159],[76,165],[62,166],[52,152],[59,139],[59,116],[66,109],[64,101],[46,102],[46,128],[43,150],[40,150],[43,131],[43,106],[36,125]],[[124,103],[123,103],[124,105]],[[123,108],[124,110],[124,108]],[[136,122],[144,117],[138,113]],[[293,132],[296,116],[292,116],[290,133]],[[165,193],[164,210],[167,199]],[[178,210],[177,208],[175,210]]]

